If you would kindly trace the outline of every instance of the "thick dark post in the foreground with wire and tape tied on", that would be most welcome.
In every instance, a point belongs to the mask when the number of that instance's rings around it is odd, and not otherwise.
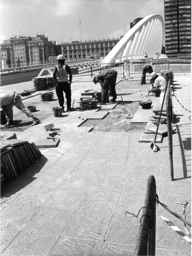
[[[156,236],[156,181],[153,175],[147,179],[147,192],[137,244],[133,255],[155,255]]]

